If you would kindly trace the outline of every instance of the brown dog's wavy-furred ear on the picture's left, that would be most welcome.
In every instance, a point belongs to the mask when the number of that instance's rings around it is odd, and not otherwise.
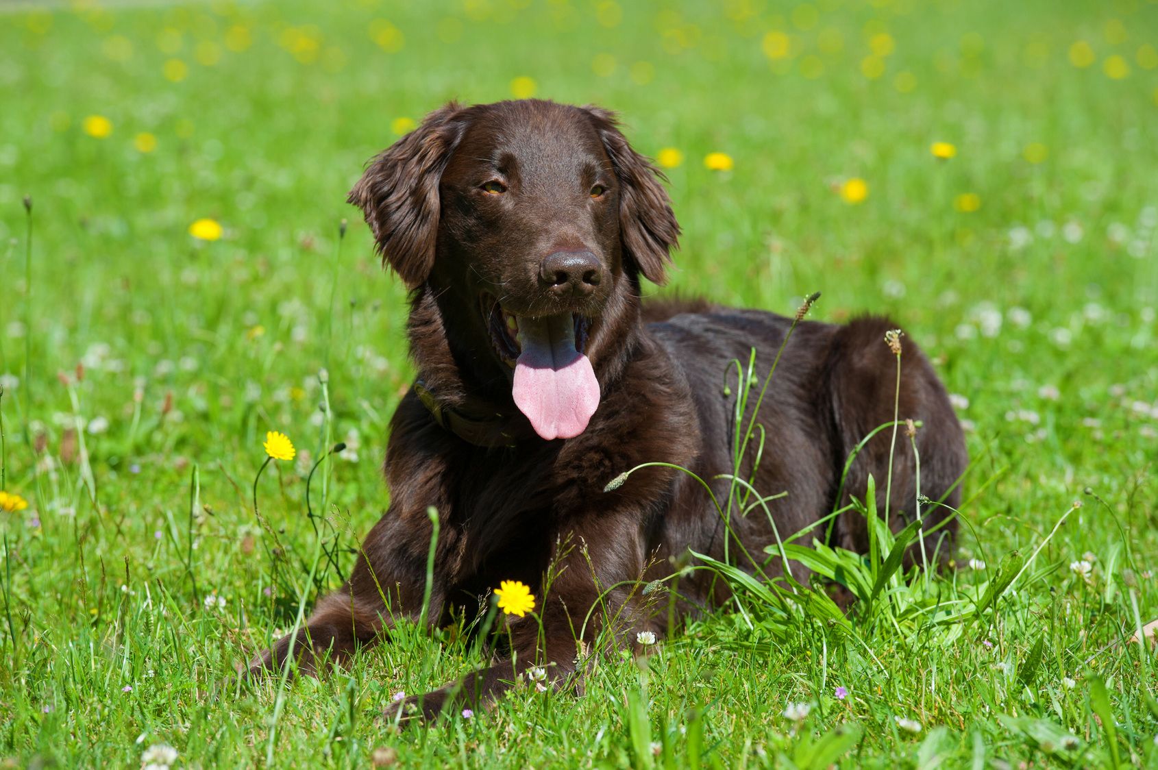
[[[434,266],[439,181],[462,134],[450,102],[369,162],[346,198],[366,215],[382,262],[413,288]]]

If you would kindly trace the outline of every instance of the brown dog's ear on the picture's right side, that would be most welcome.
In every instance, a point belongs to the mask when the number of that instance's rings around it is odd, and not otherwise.
[[[632,149],[620,131],[615,113],[598,107],[585,108],[603,140],[603,149],[620,181],[620,237],[624,257],[635,262],[647,280],[667,280],[670,250],[679,248],[680,223],[662,182],[664,173]]]

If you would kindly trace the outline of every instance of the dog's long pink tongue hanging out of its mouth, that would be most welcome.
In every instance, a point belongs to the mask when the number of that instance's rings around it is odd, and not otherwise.
[[[571,314],[519,318],[522,352],[514,367],[514,403],[542,438],[570,439],[599,408],[599,381],[576,350]]]

